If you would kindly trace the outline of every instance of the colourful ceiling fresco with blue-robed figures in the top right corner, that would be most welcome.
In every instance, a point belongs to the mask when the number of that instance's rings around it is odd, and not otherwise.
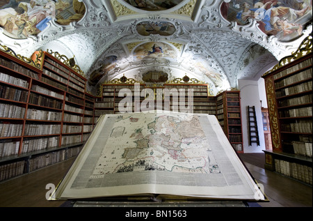
[[[298,38],[312,20],[311,0],[227,0],[220,13],[230,22],[240,25],[257,20],[259,29],[280,41]]]

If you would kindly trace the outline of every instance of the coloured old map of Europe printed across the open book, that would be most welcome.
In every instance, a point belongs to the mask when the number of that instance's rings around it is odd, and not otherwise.
[[[197,115],[147,113],[115,117],[92,176],[159,170],[218,174]]]

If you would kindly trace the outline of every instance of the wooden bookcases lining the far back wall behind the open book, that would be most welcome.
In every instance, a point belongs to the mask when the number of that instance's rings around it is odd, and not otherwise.
[[[128,84],[125,84],[125,82]],[[134,89],[134,83],[139,85],[138,89]],[[120,89],[129,89],[131,91],[130,100],[128,101],[132,105],[127,107],[130,112],[140,111],[143,100],[149,102],[149,99],[152,99],[154,100],[154,109],[215,115],[233,148],[238,153],[243,153],[240,91],[223,91],[218,96],[213,96],[210,93],[209,84],[202,84],[195,79],[192,82],[175,79],[161,85],[148,85],[127,78],[124,80],[113,79],[111,82],[102,84],[99,90],[98,101],[95,102],[95,118],[98,118],[101,114],[120,112],[118,109],[119,102],[127,101],[124,93],[118,96]],[[188,103],[190,100],[188,90],[193,91],[192,103]],[[143,94],[150,93],[152,96],[141,96],[135,99],[135,91],[140,91]],[[139,96],[141,93],[139,93]],[[179,101],[182,101],[181,99],[183,99],[184,105],[179,103]],[[127,108],[124,107],[123,111],[125,112]]]

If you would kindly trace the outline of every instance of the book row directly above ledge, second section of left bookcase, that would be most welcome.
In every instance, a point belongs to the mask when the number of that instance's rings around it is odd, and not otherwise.
[[[32,151],[40,151],[47,148],[58,146],[60,137],[42,137],[40,139],[24,139],[22,145],[22,153],[30,153]]]

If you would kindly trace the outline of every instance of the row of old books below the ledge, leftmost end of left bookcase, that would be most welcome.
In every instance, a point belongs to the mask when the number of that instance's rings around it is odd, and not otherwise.
[[[25,161],[11,162],[0,166],[0,181],[22,175],[24,173]]]

